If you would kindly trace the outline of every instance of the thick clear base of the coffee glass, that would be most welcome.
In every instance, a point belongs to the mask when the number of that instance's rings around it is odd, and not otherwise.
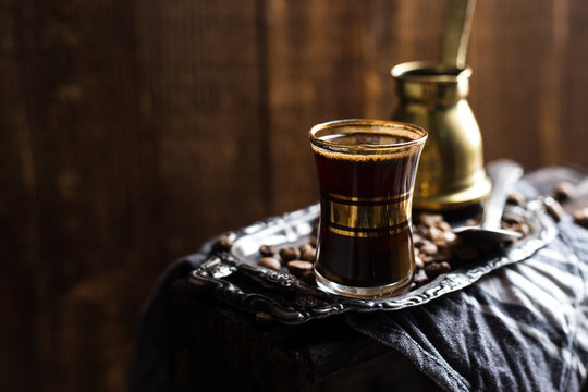
[[[342,295],[351,298],[362,298],[362,299],[381,299],[385,297],[395,296],[402,293],[405,293],[408,287],[411,286],[411,282],[413,281],[413,274],[414,270],[411,271],[411,274],[406,277],[403,280],[400,280],[397,282],[387,284],[387,285],[380,285],[380,286],[371,286],[371,287],[355,287],[355,286],[347,286],[344,284],[335,283],[323,275],[321,275],[317,270],[315,270],[315,277],[317,278],[317,285],[320,290],[323,292],[327,292],[329,294],[336,294]]]

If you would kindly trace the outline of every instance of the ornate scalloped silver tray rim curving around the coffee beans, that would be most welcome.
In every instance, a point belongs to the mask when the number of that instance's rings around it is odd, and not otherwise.
[[[528,258],[549,244],[558,229],[546,213],[541,200],[525,208],[507,206],[530,226],[524,240],[501,254],[478,260],[439,275],[433,281],[405,294],[388,298],[355,299],[327,294],[316,285],[283,271],[257,265],[259,246],[298,246],[308,242],[319,205],[269,218],[249,226],[225,233],[233,241],[231,252],[212,252],[189,275],[189,281],[206,287],[217,298],[248,311],[269,314],[278,321],[297,324],[344,311],[399,310],[426,304],[446,293],[462,290],[489,272]]]

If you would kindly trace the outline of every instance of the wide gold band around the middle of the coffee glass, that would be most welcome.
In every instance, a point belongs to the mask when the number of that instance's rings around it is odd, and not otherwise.
[[[356,237],[383,236],[408,228],[411,192],[390,197],[324,195],[323,219],[329,231]]]

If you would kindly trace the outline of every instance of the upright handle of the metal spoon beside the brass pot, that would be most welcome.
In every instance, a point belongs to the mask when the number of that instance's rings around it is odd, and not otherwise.
[[[513,185],[523,175],[520,164],[507,160],[500,159],[490,162],[486,168],[486,172],[492,180],[492,192],[483,206],[480,228],[486,230],[500,229],[500,219],[506,204],[506,196]]]

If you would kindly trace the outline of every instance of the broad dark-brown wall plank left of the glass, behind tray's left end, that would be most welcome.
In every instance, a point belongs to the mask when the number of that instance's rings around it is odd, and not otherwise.
[[[232,1],[137,8],[138,95],[158,135],[167,259],[268,211],[256,10]]]

